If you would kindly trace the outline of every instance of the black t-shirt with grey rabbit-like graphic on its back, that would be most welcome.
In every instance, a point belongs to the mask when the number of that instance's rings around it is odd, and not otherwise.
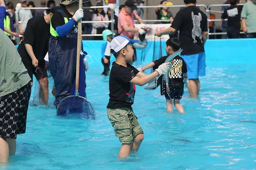
[[[207,31],[207,16],[196,6],[180,10],[172,22],[172,28],[180,31],[181,55],[204,52],[203,32]]]

